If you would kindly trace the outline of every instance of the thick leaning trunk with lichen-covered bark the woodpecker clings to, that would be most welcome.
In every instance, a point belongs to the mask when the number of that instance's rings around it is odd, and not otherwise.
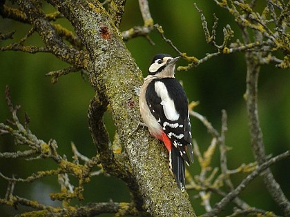
[[[100,100],[110,105],[146,211],[153,216],[195,216],[168,172],[164,147],[147,130],[136,130],[141,121],[136,90],[142,85],[142,74],[109,14],[97,1],[50,3],[72,23],[88,50],[90,82],[101,93]]]

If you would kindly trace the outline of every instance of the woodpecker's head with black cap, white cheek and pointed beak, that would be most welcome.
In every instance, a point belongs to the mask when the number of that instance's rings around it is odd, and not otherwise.
[[[173,58],[168,54],[157,54],[149,67],[149,75],[160,77],[174,77],[175,63],[180,56]]]

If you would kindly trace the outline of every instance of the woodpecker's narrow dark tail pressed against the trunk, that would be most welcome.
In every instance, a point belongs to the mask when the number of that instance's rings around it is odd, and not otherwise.
[[[185,189],[185,165],[179,151],[173,147],[169,153],[169,165],[175,178],[178,187],[182,190]]]

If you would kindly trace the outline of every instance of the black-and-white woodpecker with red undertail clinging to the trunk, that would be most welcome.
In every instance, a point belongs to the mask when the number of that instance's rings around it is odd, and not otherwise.
[[[168,150],[169,168],[183,192],[184,161],[187,165],[193,163],[193,148],[188,101],[174,77],[178,59],[180,56],[173,58],[168,54],[154,56],[141,88],[139,107],[150,134],[163,141]]]

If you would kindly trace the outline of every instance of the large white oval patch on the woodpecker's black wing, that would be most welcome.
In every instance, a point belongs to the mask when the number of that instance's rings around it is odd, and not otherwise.
[[[161,81],[155,82],[155,92],[157,96],[161,98],[161,105],[166,118],[170,121],[177,121],[180,118],[180,114],[175,110],[174,101],[169,97],[166,86]]]

